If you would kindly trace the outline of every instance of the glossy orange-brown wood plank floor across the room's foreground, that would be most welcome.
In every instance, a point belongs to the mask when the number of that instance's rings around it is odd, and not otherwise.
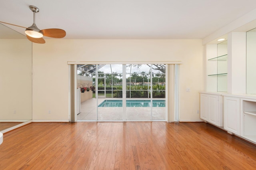
[[[256,146],[206,123],[30,123],[4,134],[0,169],[256,169]]]

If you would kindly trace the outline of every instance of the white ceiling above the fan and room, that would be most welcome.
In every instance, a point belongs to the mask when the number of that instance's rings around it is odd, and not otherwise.
[[[203,39],[256,0],[0,0],[0,21],[61,28],[66,39]],[[24,28],[13,27],[24,34]]]

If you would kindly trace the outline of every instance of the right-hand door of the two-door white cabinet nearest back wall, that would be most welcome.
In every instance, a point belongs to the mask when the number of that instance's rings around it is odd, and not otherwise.
[[[218,117],[218,95],[209,95],[208,96],[208,122],[219,125],[219,117]]]

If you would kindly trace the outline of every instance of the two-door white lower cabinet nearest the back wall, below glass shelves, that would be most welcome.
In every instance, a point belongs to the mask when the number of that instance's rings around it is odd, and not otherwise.
[[[223,127],[223,97],[220,94],[200,92],[200,118]]]

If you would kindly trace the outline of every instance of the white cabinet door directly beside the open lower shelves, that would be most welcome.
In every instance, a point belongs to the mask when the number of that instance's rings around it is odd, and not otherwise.
[[[240,135],[240,99],[224,96],[224,129]]]

